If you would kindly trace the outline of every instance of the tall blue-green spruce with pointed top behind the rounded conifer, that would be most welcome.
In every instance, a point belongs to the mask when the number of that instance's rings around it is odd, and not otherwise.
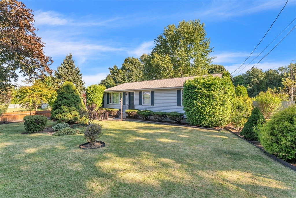
[[[60,79],[62,83],[66,81],[73,83],[80,96],[82,96],[85,91],[85,83],[82,80],[82,74],[80,73],[79,68],[75,66],[71,53],[66,56],[54,75]]]

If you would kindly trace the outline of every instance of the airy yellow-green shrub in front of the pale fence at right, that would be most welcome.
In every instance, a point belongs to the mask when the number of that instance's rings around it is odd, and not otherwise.
[[[266,92],[261,91],[255,97],[255,101],[257,102],[258,108],[265,119],[269,118],[272,114],[281,109],[282,99],[271,89],[268,89]]]

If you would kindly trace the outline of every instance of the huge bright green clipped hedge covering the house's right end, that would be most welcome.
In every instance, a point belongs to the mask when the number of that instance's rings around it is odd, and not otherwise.
[[[215,127],[227,124],[235,91],[230,76],[196,77],[184,83],[183,109],[191,125]]]

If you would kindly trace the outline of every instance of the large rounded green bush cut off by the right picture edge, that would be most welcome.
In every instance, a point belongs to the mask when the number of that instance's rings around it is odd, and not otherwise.
[[[296,105],[274,114],[259,131],[266,151],[284,160],[296,160]]]

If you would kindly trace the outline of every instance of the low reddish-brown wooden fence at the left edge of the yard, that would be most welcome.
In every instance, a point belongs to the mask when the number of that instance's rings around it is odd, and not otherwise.
[[[17,111],[5,113],[0,117],[0,122],[22,121],[26,115],[44,115],[50,118],[50,111]]]

